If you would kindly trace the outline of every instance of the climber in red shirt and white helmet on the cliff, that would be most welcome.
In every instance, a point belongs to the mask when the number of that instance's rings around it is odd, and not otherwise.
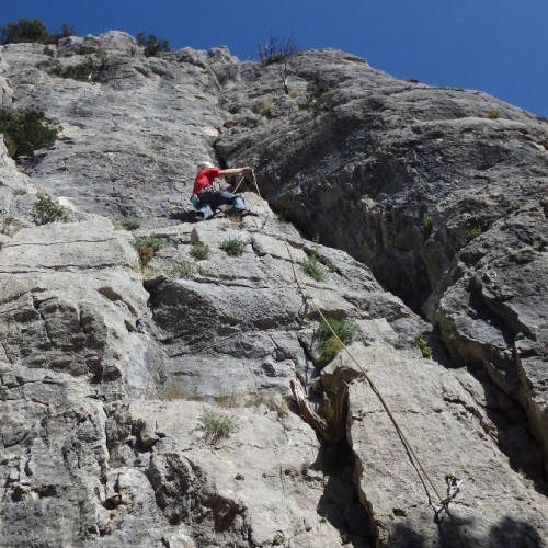
[[[218,176],[250,173],[251,168],[243,167],[220,170],[210,162],[201,162],[197,165],[197,170],[191,197],[192,205],[196,209],[196,215],[204,219],[209,219],[215,215],[215,210],[220,205],[231,205],[231,210],[236,215],[243,215],[248,212],[241,196],[228,191],[217,190],[213,183]]]

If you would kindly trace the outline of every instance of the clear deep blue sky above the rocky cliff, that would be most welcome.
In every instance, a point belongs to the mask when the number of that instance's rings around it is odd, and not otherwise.
[[[67,23],[81,36],[144,31],[172,49],[227,45],[242,60],[270,35],[290,37],[548,116],[548,0],[0,0],[0,18]]]

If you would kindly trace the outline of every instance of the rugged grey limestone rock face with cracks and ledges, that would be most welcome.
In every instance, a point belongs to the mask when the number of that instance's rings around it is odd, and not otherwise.
[[[60,126],[0,142],[2,546],[548,546],[546,121],[335,50],[283,76],[0,49],[2,105]],[[254,165],[255,216],[196,222],[206,159]]]

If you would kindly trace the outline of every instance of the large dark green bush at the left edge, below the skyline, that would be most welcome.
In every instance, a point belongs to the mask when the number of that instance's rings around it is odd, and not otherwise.
[[[44,112],[37,109],[23,113],[0,109],[0,133],[3,134],[8,153],[12,158],[33,156],[35,150],[50,147],[58,132]]]

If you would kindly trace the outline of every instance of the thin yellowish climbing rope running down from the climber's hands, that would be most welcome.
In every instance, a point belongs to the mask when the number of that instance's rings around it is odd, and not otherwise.
[[[251,171],[251,174],[253,175],[253,183],[255,185],[256,193],[259,194],[259,197],[261,197],[261,192],[259,191],[259,184],[256,182],[254,170]],[[346,344],[343,341],[341,341],[341,339],[339,338],[339,335],[336,334],[336,332],[334,331],[334,329],[331,327],[330,322],[328,321],[328,319],[326,318],[326,316],[323,315],[323,312],[320,310],[318,304],[316,302],[315,298],[312,297],[312,295],[310,293],[310,289],[309,289],[307,283],[298,275],[297,270],[295,269],[296,261],[295,261],[295,259],[293,256],[293,253],[292,253],[292,250],[289,248],[289,244],[288,244],[287,240],[284,237],[282,237],[282,240],[285,243],[285,247],[287,249],[287,253],[289,255],[289,260],[290,260],[290,262],[292,262],[292,264],[294,266],[293,271],[294,271],[294,274],[295,274],[295,279],[297,281],[297,285],[299,285],[299,287],[301,287],[301,290],[302,290],[302,287],[304,287],[304,293],[306,293],[306,295],[308,296],[308,298],[312,302],[316,311],[318,312],[318,315],[320,316],[320,318],[323,320],[323,322],[326,323],[326,326],[328,327],[328,329],[331,331],[331,334],[335,338],[335,340],[341,345],[341,347],[346,352],[346,354],[352,359],[352,362],[357,366],[357,368],[364,375],[364,378],[369,384],[372,390],[374,391],[374,393],[379,399],[383,408],[385,409],[385,411],[387,412],[390,421],[392,422],[392,424],[393,424],[393,426],[396,429],[396,432],[398,433],[400,439],[402,441],[402,444],[403,444],[406,450],[408,452],[408,455],[412,458],[412,460],[414,460],[414,463],[416,465],[415,468],[418,467],[416,471],[419,473],[421,482],[423,483],[424,487],[426,487],[425,481],[424,481],[424,479],[425,479],[427,481],[427,483],[431,486],[431,488],[434,491],[434,493],[436,494],[437,499],[439,500],[441,507],[436,509],[434,506],[434,504],[432,503],[432,499],[431,499],[430,493],[429,493],[427,488],[426,488],[426,494],[429,495],[430,504],[432,505],[432,507],[435,511],[435,518],[437,520],[438,516],[439,516],[439,513],[443,512],[443,511],[445,511],[447,513],[447,515],[449,516],[450,522],[453,523],[453,525],[454,525],[454,527],[455,527],[455,529],[457,532],[457,535],[459,537],[460,544],[464,547],[467,546],[467,543],[465,541],[465,539],[461,536],[461,533],[460,533],[460,529],[458,527],[458,524],[455,521],[455,518],[453,517],[453,514],[452,514],[452,512],[449,511],[449,507],[448,507],[449,502],[459,492],[459,486],[461,483],[461,480],[459,480],[458,478],[456,478],[453,473],[447,475],[445,477],[445,481],[447,483],[447,495],[445,498],[442,496],[442,494],[437,490],[436,486],[434,484],[434,481],[432,480],[432,478],[430,477],[429,472],[424,468],[421,459],[419,458],[419,456],[418,456],[418,454],[416,454],[413,445],[411,444],[411,442],[409,441],[409,438],[404,434],[403,430],[399,425],[396,416],[393,415],[392,411],[390,410],[390,407],[388,406],[387,401],[385,400],[385,398],[383,397],[383,395],[378,390],[377,386],[375,385],[375,383],[370,378],[368,372],[354,357],[354,355],[352,354],[352,352],[350,351],[350,349],[346,346]],[[421,473],[422,473],[422,476],[421,476]],[[438,522],[436,522],[436,523],[438,523]]]

